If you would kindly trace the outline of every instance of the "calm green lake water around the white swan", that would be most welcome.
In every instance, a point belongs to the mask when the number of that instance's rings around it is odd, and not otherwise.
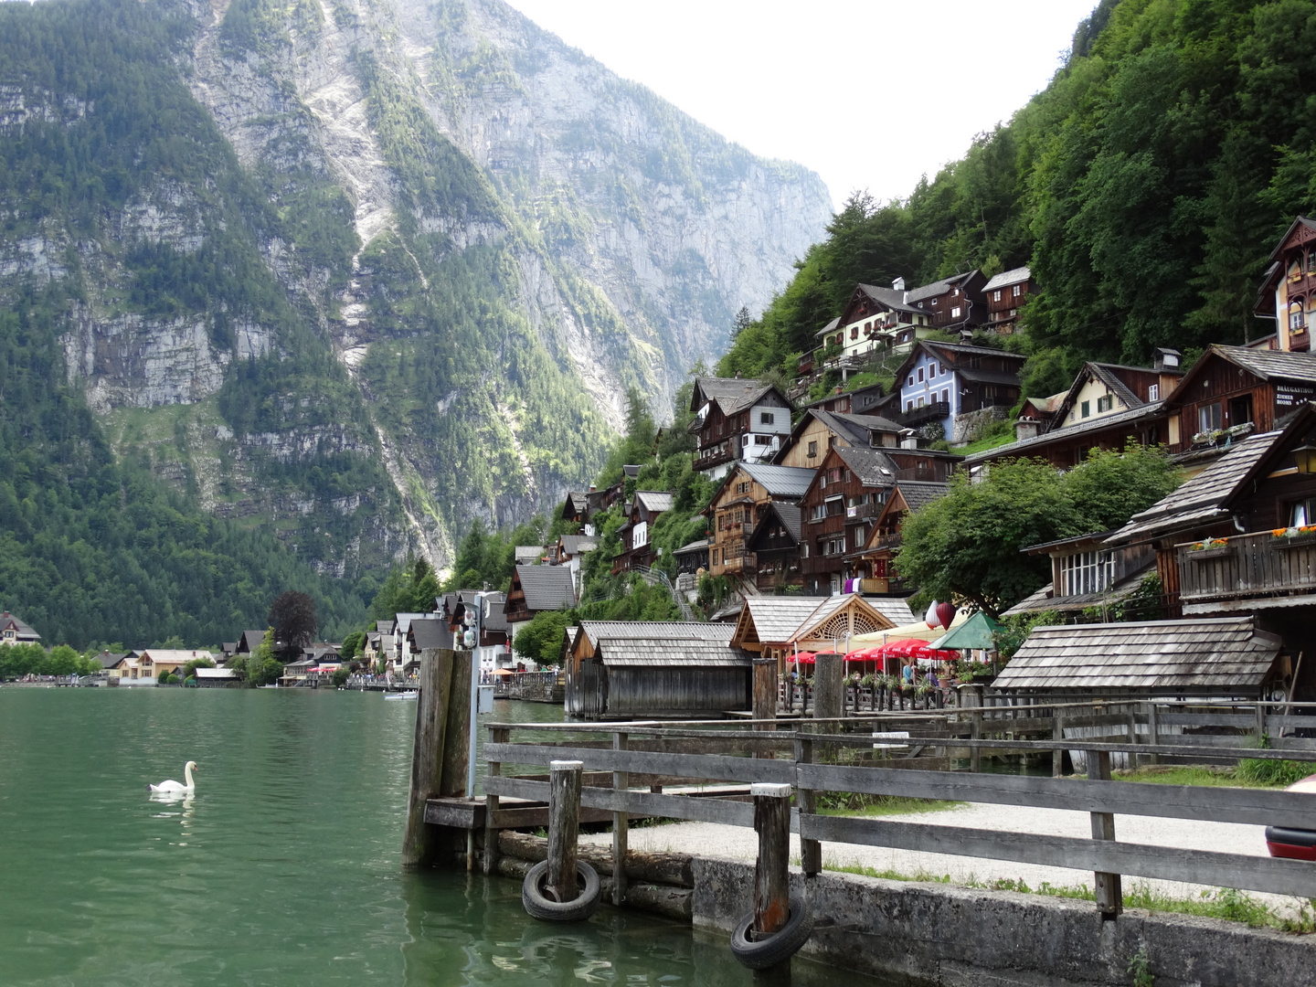
[[[753,983],[724,937],[607,905],[545,925],[517,882],[403,873],[415,717],[370,692],[0,688],[0,984]],[[151,800],[188,759],[195,796]],[[796,987],[836,976],[795,961]]]

